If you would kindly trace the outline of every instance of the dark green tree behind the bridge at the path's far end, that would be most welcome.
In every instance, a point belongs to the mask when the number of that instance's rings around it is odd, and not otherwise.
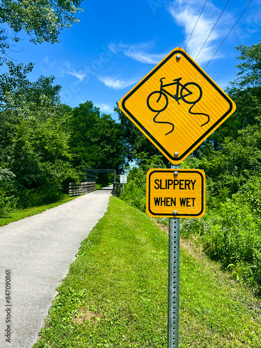
[[[70,147],[74,167],[79,168],[82,180],[86,170],[116,169],[122,172],[125,148],[122,126],[109,115],[87,101],[72,110]]]

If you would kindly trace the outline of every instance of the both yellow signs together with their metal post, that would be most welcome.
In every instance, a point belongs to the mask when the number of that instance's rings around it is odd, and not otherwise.
[[[146,212],[170,217],[168,348],[178,348],[180,218],[205,214],[205,174],[182,170],[180,163],[235,112],[236,105],[184,49],[175,48],[122,97],[119,108],[172,163],[171,168],[177,168],[148,171]]]

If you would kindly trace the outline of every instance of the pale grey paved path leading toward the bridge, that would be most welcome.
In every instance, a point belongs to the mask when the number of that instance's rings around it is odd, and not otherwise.
[[[31,348],[111,187],[0,228],[0,347]]]

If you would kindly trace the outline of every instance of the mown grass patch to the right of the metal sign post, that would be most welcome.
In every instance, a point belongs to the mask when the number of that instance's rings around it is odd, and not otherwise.
[[[187,243],[180,266],[180,347],[260,347],[260,300]]]

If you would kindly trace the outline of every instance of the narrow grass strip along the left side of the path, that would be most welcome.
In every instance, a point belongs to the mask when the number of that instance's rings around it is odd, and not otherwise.
[[[60,200],[58,200],[55,203],[49,203],[45,205],[40,205],[38,207],[31,207],[27,209],[17,210],[15,212],[10,213],[8,216],[0,216],[0,227],[8,225],[8,223],[22,220],[28,216],[33,216],[36,214],[40,214],[42,212],[45,212],[47,209],[52,209],[54,207],[57,207],[58,205],[61,205],[63,203],[69,202],[69,200],[72,200],[77,197],[70,197],[69,195],[63,196]]]

